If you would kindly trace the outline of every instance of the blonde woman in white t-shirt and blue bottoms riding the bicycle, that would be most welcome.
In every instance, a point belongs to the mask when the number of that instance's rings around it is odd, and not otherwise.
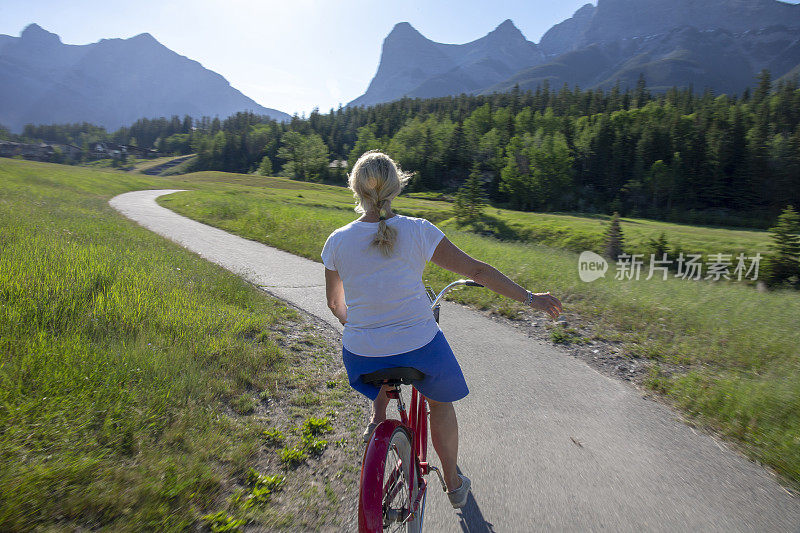
[[[461,367],[433,318],[422,283],[427,261],[467,276],[488,289],[547,312],[561,302],[533,294],[496,268],[473,259],[425,219],[392,212],[408,176],[387,155],[366,152],[353,166],[349,186],[358,220],[328,237],[322,249],[328,307],[344,325],[342,357],[350,385],[372,400],[368,440],[386,419],[386,387],[359,380],[383,368],[413,367],[425,374],[414,383],[430,405],[431,440],[442,464],[447,495],[455,508],[467,502],[470,480],[458,474],[458,423],[454,401],[469,392]]]

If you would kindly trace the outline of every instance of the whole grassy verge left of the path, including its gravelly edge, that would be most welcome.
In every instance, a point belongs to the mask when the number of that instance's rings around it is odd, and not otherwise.
[[[335,347],[107,203],[176,185],[0,159],[0,530],[342,520],[359,413]]]

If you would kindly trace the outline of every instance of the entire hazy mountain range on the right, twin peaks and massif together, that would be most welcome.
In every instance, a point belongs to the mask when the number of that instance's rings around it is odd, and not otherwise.
[[[677,86],[740,93],[755,83],[762,69],[769,69],[773,79],[800,72],[800,5],[776,0],[598,0],[596,7],[586,4],[550,28],[538,45],[526,41],[511,21],[465,45],[435,43],[403,24],[413,31],[415,43],[424,43],[430,55],[439,54],[439,61],[418,53],[411,39],[397,38],[398,25],[384,42],[369,89],[350,105],[402,96],[488,94],[515,85],[535,89],[545,81],[555,88],[565,83],[585,89],[619,83],[625,88],[634,86],[641,74],[653,90]],[[497,61],[496,50],[485,46],[480,61],[466,67],[448,63],[444,47],[487,42],[503,26],[509,36],[510,28],[516,31],[513,61]],[[525,63],[498,79],[513,65]],[[479,69],[483,75],[474,74]]]

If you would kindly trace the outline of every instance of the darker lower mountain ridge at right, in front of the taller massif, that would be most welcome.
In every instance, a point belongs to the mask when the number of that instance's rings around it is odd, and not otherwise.
[[[733,34],[683,27],[661,35],[592,44],[567,52],[482,92],[505,92],[515,85],[533,90],[545,80],[556,88],[568,83],[608,89],[617,82],[622,88],[634,87],[643,74],[652,90],[691,86],[739,94],[754,85],[761,69],[770,69],[778,78],[798,64],[797,30],[771,27]]]

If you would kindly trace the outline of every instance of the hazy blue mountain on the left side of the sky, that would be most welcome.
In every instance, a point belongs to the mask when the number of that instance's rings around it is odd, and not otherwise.
[[[219,74],[178,55],[148,33],[65,45],[31,24],[0,35],[0,124],[91,122],[116,129],[142,117],[227,117],[253,111],[277,120]]]

